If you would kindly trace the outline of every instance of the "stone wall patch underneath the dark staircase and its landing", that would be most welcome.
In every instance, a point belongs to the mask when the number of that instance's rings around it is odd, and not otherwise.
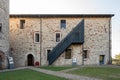
[[[72,50],[71,59],[65,59],[65,52],[53,63],[55,66],[70,66],[73,58],[76,58],[77,65],[82,65],[82,45],[73,44],[68,49]]]

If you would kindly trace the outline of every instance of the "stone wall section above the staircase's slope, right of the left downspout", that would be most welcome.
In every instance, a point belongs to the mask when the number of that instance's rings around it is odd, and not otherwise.
[[[66,29],[60,28],[60,21],[66,20]],[[43,18],[42,19],[42,65],[47,65],[47,49],[53,49],[56,33],[60,33],[61,40],[79,23],[82,18]],[[63,58],[63,57],[62,57]],[[63,59],[62,59],[63,60]],[[69,60],[70,61],[70,60]]]

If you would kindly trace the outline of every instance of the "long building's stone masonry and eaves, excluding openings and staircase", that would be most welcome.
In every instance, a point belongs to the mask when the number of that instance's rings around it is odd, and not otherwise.
[[[113,15],[10,15],[10,48],[15,66],[28,66],[28,55],[33,55],[34,65],[48,65],[47,50],[52,50],[56,42],[56,33],[60,40],[84,19],[84,44],[72,44],[71,59],[65,59],[65,52],[53,63],[56,66],[72,65],[76,58],[77,65],[99,65],[100,55],[104,64],[111,57],[111,17]],[[24,29],[20,29],[20,20],[25,20]],[[60,21],[66,20],[66,29],[60,28]],[[35,43],[35,33],[39,33],[40,42]],[[64,45],[64,44],[63,44]],[[83,59],[83,51],[87,58]]]

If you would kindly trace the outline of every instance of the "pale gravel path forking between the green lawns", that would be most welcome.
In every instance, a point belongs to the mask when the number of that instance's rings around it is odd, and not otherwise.
[[[90,78],[90,77],[85,77],[85,76],[78,76],[78,75],[64,73],[66,71],[74,70],[74,69],[77,69],[77,68],[57,72],[57,71],[40,69],[40,68],[36,68],[36,67],[21,67],[21,68],[15,68],[15,69],[0,70],[0,72],[21,70],[21,69],[31,69],[31,70],[42,72],[42,73],[45,73],[45,74],[50,74],[50,75],[54,75],[54,76],[58,76],[58,77],[67,78],[69,80],[101,80],[101,79],[96,79],[96,78]]]

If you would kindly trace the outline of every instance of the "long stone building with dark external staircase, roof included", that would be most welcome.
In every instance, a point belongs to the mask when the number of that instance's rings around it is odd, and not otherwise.
[[[15,66],[111,63],[112,14],[10,15]]]

